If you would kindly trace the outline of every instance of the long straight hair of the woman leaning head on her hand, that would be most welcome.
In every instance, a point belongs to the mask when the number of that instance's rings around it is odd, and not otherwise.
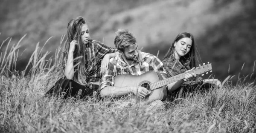
[[[68,56],[70,42],[76,40],[78,45],[75,46],[73,53],[74,57],[74,77],[73,80],[81,85],[85,85],[86,76],[83,74],[86,71],[86,45],[81,41],[81,26],[86,24],[83,17],[76,17],[70,20],[67,24],[67,41],[64,44],[64,57]],[[90,42],[90,41],[88,41]]]

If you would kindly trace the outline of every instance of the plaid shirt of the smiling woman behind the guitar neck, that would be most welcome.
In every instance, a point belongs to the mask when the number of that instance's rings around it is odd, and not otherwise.
[[[175,76],[178,74],[185,73],[191,68],[186,63],[182,65],[173,55],[168,59],[163,60],[163,67],[166,69],[166,72],[169,76]],[[200,76],[197,76],[192,81],[186,81],[181,86],[198,86],[203,84],[203,79]]]

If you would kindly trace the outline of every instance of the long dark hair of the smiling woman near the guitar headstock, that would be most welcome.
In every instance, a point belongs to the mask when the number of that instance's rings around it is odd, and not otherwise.
[[[199,55],[197,54],[196,44],[195,40],[192,34],[183,32],[177,35],[175,40],[172,42],[171,47],[169,48],[169,51],[166,53],[166,55],[163,57],[163,61],[170,58],[172,55],[174,55],[175,51],[175,42],[178,42],[182,38],[190,38],[192,40],[192,46],[190,48],[190,51],[188,54],[184,55],[183,57],[180,57],[180,62],[183,64],[189,65],[190,68],[196,67],[199,64]]]

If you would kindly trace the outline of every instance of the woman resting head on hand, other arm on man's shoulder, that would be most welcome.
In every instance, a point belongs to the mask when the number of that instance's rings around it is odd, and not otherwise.
[[[108,69],[109,59],[119,54],[102,42],[91,40],[88,25],[83,17],[70,20],[67,41],[64,44],[62,65],[64,77],[47,91],[46,96],[64,99],[80,95],[92,96],[99,88],[99,81]]]

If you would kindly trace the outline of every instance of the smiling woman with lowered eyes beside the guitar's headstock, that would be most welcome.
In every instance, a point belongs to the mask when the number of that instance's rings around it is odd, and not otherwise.
[[[163,66],[169,76],[175,76],[193,71],[199,65],[199,55],[196,52],[196,44],[192,34],[183,32],[177,35],[172,42],[169,51],[163,58]],[[219,86],[221,84],[218,79],[203,80],[195,73],[187,73],[185,77],[189,78],[179,80],[174,85],[167,85],[169,92],[193,91],[195,88],[201,87],[205,83]],[[187,80],[188,79],[188,80]],[[181,92],[180,91],[180,92]]]

